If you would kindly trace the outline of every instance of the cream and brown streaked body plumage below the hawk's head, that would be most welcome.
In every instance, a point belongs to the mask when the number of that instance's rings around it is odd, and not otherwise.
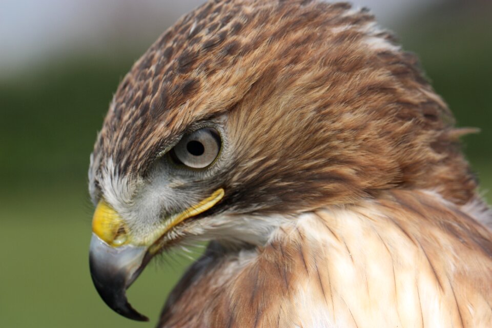
[[[490,327],[490,232],[435,193],[305,213],[260,249],[212,245],[161,327]]]

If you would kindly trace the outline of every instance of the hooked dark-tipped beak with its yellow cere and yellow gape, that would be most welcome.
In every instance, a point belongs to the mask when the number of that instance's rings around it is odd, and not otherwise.
[[[146,316],[132,308],[126,290],[160,249],[154,243],[182,221],[211,209],[223,196],[224,190],[220,188],[195,206],[171,216],[166,220],[162,233],[149,245],[132,244],[131,232],[125,222],[109,204],[101,200],[92,222],[89,267],[94,286],[104,302],[122,316],[148,321]]]

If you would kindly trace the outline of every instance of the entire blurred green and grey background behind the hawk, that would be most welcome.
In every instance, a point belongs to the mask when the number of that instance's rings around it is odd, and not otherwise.
[[[492,187],[492,2],[356,0],[420,55],[454,111],[466,154]],[[122,318],[89,275],[86,172],[122,76],[201,1],[0,0],[0,326],[150,327],[190,259],[150,265],[129,300],[151,323]],[[489,202],[490,194],[486,194]]]

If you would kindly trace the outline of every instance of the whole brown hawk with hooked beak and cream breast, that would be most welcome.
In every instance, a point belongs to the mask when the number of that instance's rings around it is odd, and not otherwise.
[[[89,169],[95,287],[145,320],[126,289],[207,241],[159,327],[491,327],[467,132],[366,9],[209,1],[110,104]]]

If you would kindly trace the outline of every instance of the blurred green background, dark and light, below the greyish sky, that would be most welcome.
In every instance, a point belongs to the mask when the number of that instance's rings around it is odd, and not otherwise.
[[[405,49],[419,54],[458,126],[482,129],[464,143],[482,189],[490,189],[492,26],[476,17],[421,19],[398,34]],[[150,265],[129,290],[152,325],[113,313],[90,279],[89,154],[134,59],[75,58],[0,82],[0,327],[153,326],[189,263]]]

